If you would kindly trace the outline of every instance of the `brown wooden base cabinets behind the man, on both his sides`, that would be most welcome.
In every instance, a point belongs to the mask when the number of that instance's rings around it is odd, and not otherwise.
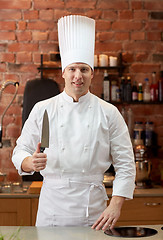
[[[0,226],[35,226],[40,188],[37,194],[0,194]],[[112,189],[106,188],[106,192],[111,198]],[[134,199],[124,202],[117,225],[162,223],[163,188],[153,188],[135,190]]]

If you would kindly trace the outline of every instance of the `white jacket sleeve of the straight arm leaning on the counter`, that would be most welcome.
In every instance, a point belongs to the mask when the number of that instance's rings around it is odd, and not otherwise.
[[[115,169],[113,196],[133,198],[135,189],[135,161],[128,127],[118,110],[114,108],[110,121],[110,151]]]

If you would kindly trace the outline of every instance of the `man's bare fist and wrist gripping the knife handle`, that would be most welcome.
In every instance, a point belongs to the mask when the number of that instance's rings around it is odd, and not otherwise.
[[[40,153],[41,144],[38,143],[37,149],[32,156],[26,157],[22,164],[21,169],[23,172],[39,172],[46,167],[47,155],[45,153]]]

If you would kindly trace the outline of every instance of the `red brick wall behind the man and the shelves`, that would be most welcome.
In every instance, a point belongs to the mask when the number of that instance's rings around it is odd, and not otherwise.
[[[20,82],[18,95],[3,122],[0,169],[9,180],[18,176],[10,161],[21,132],[22,96],[25,84],[40,76],[40,53],[58,47],[57,20],[68,14],[96,19],[96,54],[118,56],[122,52],[124,74],[132,80],[151,80],[151,73],[163,70],[163,1],[160,0],[0,0],[0,85],[10,79]],[[63,88],[60,72],[48,73]],[[102,93],[103,72],[96,71],[91,90]],[[0,99],[0,116],[15,88],[7,87]],[[155,122],[158,143],[163,146],[163,107],[133,107],[142,120]],[[157,165],[158,166],[158,165]]]

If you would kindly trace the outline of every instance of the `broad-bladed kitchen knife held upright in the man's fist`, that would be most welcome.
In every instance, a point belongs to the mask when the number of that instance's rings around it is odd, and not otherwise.
[[[45,110],[42,123],[42,136],[40,152],[44,152],[45,148],[49,147],[49,118],[48,113]]]

